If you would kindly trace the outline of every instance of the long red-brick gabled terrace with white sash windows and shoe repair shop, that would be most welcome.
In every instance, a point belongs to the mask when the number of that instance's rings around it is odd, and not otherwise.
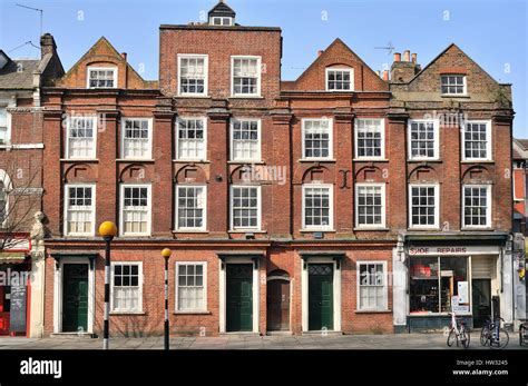
[[[113,334],[163,331],[166,247],[173,334],[512,323],[509,85],[340,39],[283,81],[281,29],[223,1],[159,34],[159,81],[101,38],[42,90],[45,334],[100,334],[105,220]]]

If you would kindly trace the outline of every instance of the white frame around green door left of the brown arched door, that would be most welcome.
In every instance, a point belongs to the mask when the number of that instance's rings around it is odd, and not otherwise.
[[[226,333],[226,281],[227,281],[227,265],[228,264],[251,264],[253,266],[253,333],[258,333],[258,324],[261,320],[260,314],[260,280],[258,270],[260,261],[255,264],[253,257],[228,257],[225,256],[218,264],[218,293],[219,293],[219,333]]]

